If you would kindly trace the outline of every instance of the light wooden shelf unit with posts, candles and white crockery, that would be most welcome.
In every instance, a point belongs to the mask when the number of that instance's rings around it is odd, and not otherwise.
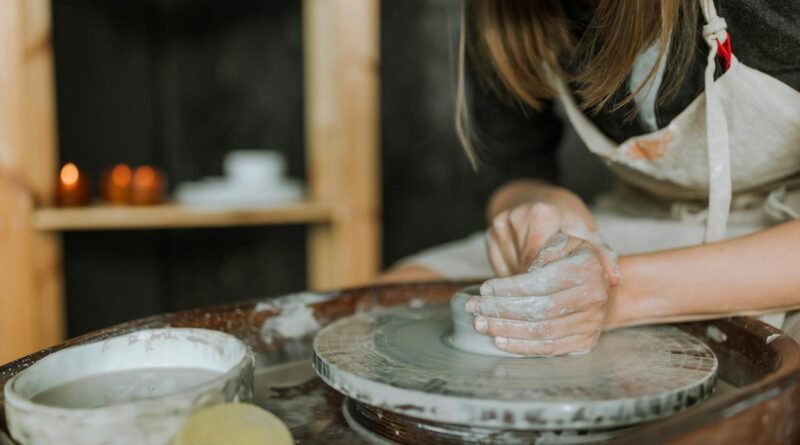
[[[153,167],[87,178],[60,164],[50,0],[0,2],[0,363],[64,339],[62,231],[308,224],[309,288],[370,280],[380,265],[378,21],[378,0],[303,2],[307,190],[275,153],[239,151],[224,177],[178,184],[164,202]],[[102,203],[90,203],[92,187]]]

